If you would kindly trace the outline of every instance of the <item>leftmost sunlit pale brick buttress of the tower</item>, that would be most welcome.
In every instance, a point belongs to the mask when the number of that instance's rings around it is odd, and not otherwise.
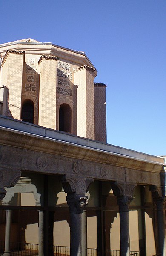
[[[8,53],[3,63],[2,83],[9,89],[6,116],[20,119],[24,53]]]

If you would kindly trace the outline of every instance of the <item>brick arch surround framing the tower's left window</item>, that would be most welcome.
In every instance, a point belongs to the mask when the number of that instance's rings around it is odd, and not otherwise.
[[[31,101],[33,101],[34,103],[34,124],[38,125],[38,109],[39,109],[39,100],[37,95],[35,95],[32,92],[23,92],[22,93],[22,103],[23,101],[25,101],[26,99],[29,99]]]

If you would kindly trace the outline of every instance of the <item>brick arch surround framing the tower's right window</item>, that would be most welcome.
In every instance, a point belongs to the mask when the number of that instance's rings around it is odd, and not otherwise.
[[[57,120],[56,120],[56,129],[59,130],[59,108],[61,104],[68,104],[72,109],[72,127],[71,127],[71,133],[75,134],[75,128],[74,128],[74,101],[67,97],[67,96],[60,96],[57,98]]]

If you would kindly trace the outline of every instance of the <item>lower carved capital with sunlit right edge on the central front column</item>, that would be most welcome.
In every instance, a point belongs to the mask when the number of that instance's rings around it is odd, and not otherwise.
[[[88,196],[84,195],[68,194],[66,200],[71,213],[82,213],[88,204]]]

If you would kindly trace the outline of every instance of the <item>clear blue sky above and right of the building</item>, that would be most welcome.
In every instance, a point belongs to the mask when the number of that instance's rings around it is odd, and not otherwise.
[[[0,0],[0,43],[85,51],[107,84],[107,140],[166,155],[166,0]]]

